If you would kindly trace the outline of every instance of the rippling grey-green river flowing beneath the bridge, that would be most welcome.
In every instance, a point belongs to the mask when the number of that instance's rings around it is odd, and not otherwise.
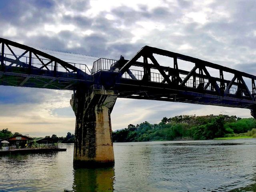
[[[0,156],[0,191],[256,191],[256,139],[114,143],[100,169],[74,169],[73,148]]]

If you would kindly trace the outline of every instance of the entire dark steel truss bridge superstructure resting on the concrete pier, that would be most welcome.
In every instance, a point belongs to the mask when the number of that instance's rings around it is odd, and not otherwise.
[[[90,71],[85,64],[4,38],[0,46],[0,85],[58,90],[103,86],[120,98],[248,108],[256,117],[256,76],[198,58],[144,46],[130,60],[100,58]],[[168,65],[161,65],[166,60]],[[184,63],[191,70],[181,70]]]

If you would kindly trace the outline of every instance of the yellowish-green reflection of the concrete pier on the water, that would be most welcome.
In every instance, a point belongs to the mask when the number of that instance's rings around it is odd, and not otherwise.
[[[114,191],[114,169],[80,168],[74,170],[74,191],[84,192],[112,192]]]

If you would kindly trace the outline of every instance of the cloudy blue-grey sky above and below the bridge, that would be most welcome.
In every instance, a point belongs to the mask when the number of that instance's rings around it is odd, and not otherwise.
[[[63,60],[91,66],[99,57],[129,59],[148,45],[256,74],[255,0],[0,0],[0,5],[0,37],[46,48]],[[74,133],[71,94],[0,86],[0,129],[30,136]],[[180,114],[250,117],[250,110],[118,98],[112,129]]]

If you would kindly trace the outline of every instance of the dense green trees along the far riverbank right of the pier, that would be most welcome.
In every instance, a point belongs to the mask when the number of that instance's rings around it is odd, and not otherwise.
[[[180,115],[164,117],[158,124],[143,122],[129,124],[127,128],[112,133],[114,142],[139,142],[159,140],[208,140],[223,137],[256,137],[254,118],[237,118],[228,115]]]

